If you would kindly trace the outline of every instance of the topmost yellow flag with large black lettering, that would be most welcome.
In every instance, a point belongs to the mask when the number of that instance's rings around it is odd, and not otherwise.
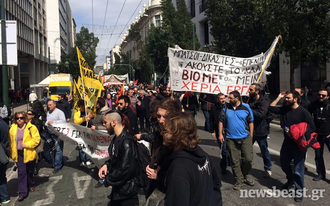
[[[84,80],[84,86],[94,89],[104,89],[100,81],[96,78],[93,69],[88,66],[84,57],[82,57],[79,48],[77,47],[78,61],[80,67],[80,75]]]

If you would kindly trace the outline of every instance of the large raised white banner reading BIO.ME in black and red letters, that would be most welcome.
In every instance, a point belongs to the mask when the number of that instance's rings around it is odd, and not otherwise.
[[[178,45],[169,48],[169,86],[175,91],[211,94],[229,94],[237,90],[241,95],[247,96],[249,86],[256,83],[259,77],[259,84],[266,84],[266,75],[270,72],[262,70],[269,66],[278,38],[273,41],[266,53],[251,58],[183,50]]]

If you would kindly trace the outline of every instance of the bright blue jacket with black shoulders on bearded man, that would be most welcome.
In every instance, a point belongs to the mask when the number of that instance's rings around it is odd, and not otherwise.
[[[226,108],[228,107],[225,117]],[[249,124],[253,123],[253,113],[248,105],[241,103],[236,110],[231,104],[226,104],[219,114],[219,122],[225,121],[226,118],[226,137],[229,139],[243,139],[250,135]]]

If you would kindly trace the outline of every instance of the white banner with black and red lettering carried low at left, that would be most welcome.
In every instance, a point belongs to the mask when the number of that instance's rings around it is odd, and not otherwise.
[[[74,123],[58,123],[48,126],[49,130],[64,141],[73,141],[88,155],[98,167],[109,159],[108,147],[114,136],[104,132],[91,130]]]

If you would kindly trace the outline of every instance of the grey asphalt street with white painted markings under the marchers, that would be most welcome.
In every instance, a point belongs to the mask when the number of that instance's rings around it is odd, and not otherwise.
[[[248,198],[240,197],[239,191],[232,189],[235,180],[228,167],[228,174],[222,175],[219,167],[219,148],[215,139],[212,139],[210,133],[203,131],[204,116],[199,113],[196,117],[199,134],[202,139],[200,146],[211,156],[214,164],[219,171],[222,179],[223,202],[224,205],[328,205],[329,184],[330,181],[314,182],[312,178],[316,174],[314,162],[314,150],[309,149],[306,164],[308,171],[305,175],[305,187],[309,189],[307,195],[312,194],[312,189],[325,189],[323,198],[313,201],[310,198],[304,198],[303,202],[297,203],[293,198]],[[269,150],[272,160],[272,176],[263,177],[263,161],[260,149],[257,143],[254,145],[254,160],[251,175],[256,182],[254,187],[243,185],[242,189],[272,189],[276,186],[278,189],[286,182],[285,174],[280,168],[279,151],[283,142],[281,128],[276,124],[271,124],[271,132],[268,140]],[[97,169],[92,167],[80,167],[78,161],[78,150],[70,142],[64,145],[65,167],[57,174],[52,174],[51,165],[41,162],[39,175],[35,176],[36,191],[30,193],[29,197],[22,202],[16,201],[17,194],[17,172],[12,172],[13,163],[8,166],[8,187],[11,202],[7,205],[106,205],[109,199],[107,196],[111,193],[111,188],[98,188],[94,186],[97,183]],[[330,154],[327,148],[324,151],[327,177],[330,178]],[[144,202],[144,197],[140,195],[140,203]]]

